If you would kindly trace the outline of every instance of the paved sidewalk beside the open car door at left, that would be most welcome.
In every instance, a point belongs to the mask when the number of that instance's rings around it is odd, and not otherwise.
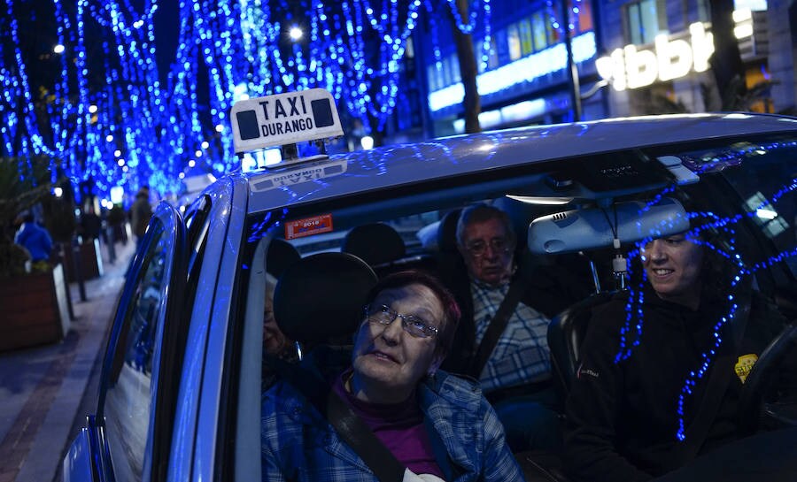
[[[117,243],[116,263],[109,264],[103,249],[104,275],[85,282],[87,301],[80,301],[77,283],[69,284],[75,319],[64,340],[0,354],[0,482],[60,479],[66,448],[80,430],[74,421],[93,411],[107,332],[134,251],[135,241]]]

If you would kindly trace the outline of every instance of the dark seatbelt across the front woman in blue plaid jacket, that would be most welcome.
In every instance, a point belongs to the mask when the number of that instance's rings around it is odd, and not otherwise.
[[[267,355],[264,355],[267,356]],[[406,467],[376,438],[370,427],[338,396],[326,380],[305,367],[267,356],[280,377],[326,418],[341,439],[360,456],[380,482],[401,482]]]

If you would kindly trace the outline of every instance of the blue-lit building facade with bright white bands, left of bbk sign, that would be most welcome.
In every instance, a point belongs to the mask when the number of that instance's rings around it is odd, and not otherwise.
[[[478,65],[484,130],[576,119],[568,75],[568,53],[562,28],[568,12],[572,58],[578,89],[594,91],[599,77],[595,12],[592,0],[507,0],[491,2],[489,28],[484,27],[480,3],[471,3],[471,33]],[[482,15],[482,17],[480,17]],[[426,130],[429,136],[460,134],[464,130],[464,88],[453,42],[454,22],[448,15],[428,16],[416,30],[419,73],[428,88]],[[603,95],[584,96],[580,119],[606,117]]]

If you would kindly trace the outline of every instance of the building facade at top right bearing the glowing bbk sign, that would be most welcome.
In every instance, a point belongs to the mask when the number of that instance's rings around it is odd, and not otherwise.
[[[788,2],[739,0],[733,33],[746,96],[716,88],[708,0],[601,2],[604,51],[596,65],[611,86],[610,117],[704,112],[790,112],[793,42]],[[777,46],[777,48],[775,48]]]

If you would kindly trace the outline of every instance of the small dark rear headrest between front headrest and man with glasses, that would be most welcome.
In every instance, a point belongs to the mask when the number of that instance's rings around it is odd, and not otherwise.
[[[383,223],[355,227],[346,233],[340,250],[359,257],[371,266],[390,263],[406,254],[401,235]]]

